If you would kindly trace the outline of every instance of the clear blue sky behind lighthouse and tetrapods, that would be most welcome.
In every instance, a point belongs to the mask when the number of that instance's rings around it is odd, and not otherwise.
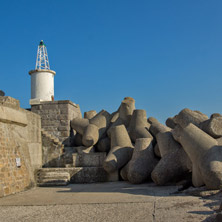
[[[222,113],[221,0],[2,0],[0,27],[0,89],[24,108],[43,39],[55,99],[82,112],[131,96],[162,122]]]

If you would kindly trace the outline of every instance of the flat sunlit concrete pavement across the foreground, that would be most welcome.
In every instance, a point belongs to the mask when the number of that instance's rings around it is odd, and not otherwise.
[[[177,189],[126,182],[34,188],[0,198],[0,221],[199,222],[215,213],[219,200]]]

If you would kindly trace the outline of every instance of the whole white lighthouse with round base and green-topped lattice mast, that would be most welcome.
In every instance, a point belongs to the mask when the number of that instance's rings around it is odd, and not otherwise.
[[[47,49],[41,40],[38,46],[35,70],[29,71],[29,75],[31,75],[30,105],[54,100],[55,74],[55,71],[50,70]]]

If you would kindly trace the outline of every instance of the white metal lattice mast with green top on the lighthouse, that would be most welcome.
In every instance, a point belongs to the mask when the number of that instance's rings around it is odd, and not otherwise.
[[[50,70],[47,49],[43,40],[41,40],[38,46],[35,69],[36,70],[42,70],[42,69]]]

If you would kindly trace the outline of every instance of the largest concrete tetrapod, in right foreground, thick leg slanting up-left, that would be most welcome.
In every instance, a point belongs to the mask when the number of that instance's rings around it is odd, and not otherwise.
[[[222,186],[222,146],[217,140],[190,123],[177,126],[173,136],[178,140],[192,161],[192,182],[195,187],[206,185],[208,189]]]

